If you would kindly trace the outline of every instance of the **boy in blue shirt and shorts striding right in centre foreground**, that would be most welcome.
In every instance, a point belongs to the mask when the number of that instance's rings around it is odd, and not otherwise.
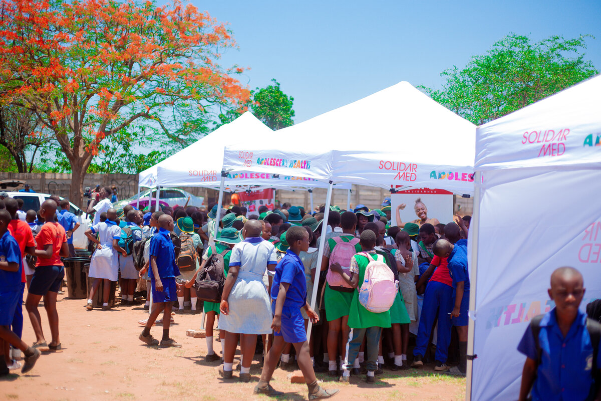
[[[301,251],[309,249],[309,233],[303,227],[293,226],[286,232],[286,241],[290,248],[275,267],[275,276],[271,287],[271,307],[273,311],[273,334],[275,338],[269,353],[265,357],[261,379],[255,387],[256,394],[267,394],[270,397],[281,396],[284,393],[271,387],[269,381],[285,343],[292,343],[298,355],[298,364],[301,368],[307,387],[309,399],[325,399],[334,396],[338,390],[324,390],[317,383],[317,378],[309,356],[309,343],[305,335],[305,322],[301,308],[305,308],[307,316],[313,322],[319,317],[307,303],[307,279],[305,268],[299,258]]]

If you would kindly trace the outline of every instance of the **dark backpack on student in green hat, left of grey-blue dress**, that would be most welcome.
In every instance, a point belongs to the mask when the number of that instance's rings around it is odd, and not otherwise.
[[[217,253],[215,245],[211,245],[211,256],[204,264],[204,268],[198,272],[196,283],[196,295],[201,301],[221,302],[221,294],[225,284],[225,262],[224,257],[231,249],[225,249]]]

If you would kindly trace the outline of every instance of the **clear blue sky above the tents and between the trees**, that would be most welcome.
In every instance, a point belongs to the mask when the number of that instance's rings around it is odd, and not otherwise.
[[[251,89],[277,79],[295,123],[399,81],[439,86],[509,32],[538,41],[591,34],[601,69],[601,1],[213,1],[192,4],[228,22],[239,45],[221,64],[251,67]]]

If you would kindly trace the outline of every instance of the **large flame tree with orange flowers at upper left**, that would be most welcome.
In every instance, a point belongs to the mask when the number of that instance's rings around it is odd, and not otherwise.
[[[219,53],[236,44],[208,13],[174,0],[3,0],[0,106],[43,121],[72,170],[70,199],[103,139],[132,123],[186,144],[210,109],[236,109],[249,91]],[[145,121],[144,121],[145,120]]]

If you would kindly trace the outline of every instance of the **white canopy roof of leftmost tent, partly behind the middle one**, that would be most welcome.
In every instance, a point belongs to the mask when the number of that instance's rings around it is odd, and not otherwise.
[[[251,112],[245,112],[162,162],[142,171],[140,186],[205,186],[219,188],[225,144],[256,144],[271,140],[273,130]],[[307,177],[272,173],[232,173],[225,179],[228,191],[253,188],[325,188]],[[341,188],[341,186],[337,186]]]

